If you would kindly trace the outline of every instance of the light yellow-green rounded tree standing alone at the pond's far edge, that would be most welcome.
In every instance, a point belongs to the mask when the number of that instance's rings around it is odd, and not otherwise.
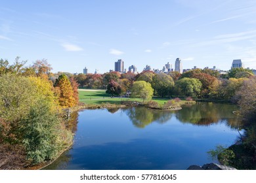
[[[142,98],[143,102],[145,99],[152,99],[154,90],[149,82],[136,81],[133,83],[133,88],[131,88],[131,97]]]

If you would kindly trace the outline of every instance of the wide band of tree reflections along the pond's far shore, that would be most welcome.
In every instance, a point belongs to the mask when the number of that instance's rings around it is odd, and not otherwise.
[[[183,105],[182,110],[153,110],[145,107],[122,109],[136,127],[144,128],[156,122],[164,124],[171,120],[173,114],[182,123],[194,125],[211,125],[225,121],[230,127],[238,128],[242,120],[235,118],[232,111],[238,110],[235,105],[216,103],[197,103],[196,105]]]

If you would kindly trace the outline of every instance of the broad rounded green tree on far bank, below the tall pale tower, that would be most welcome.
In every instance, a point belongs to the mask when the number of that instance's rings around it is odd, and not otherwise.
[[[182,78],[175,84],[179,95],[197,97],[202,88],[202,83],[196,78]]]

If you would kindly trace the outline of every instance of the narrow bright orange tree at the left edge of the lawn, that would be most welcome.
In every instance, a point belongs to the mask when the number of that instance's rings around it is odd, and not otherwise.
[[[68,80],[68,76],[62,74],[56,79],[55,87],[59,88],[60,94],[58,97],[58,102],[62,107],[74,107],[74,91]]]

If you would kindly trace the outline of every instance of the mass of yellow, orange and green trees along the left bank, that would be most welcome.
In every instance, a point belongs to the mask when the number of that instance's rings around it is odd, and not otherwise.
[[[47,60],[25,63],[0,60],[0,169],[54,159],[73,141],[64,109],[78,104],[74,76],[53,80]]]

